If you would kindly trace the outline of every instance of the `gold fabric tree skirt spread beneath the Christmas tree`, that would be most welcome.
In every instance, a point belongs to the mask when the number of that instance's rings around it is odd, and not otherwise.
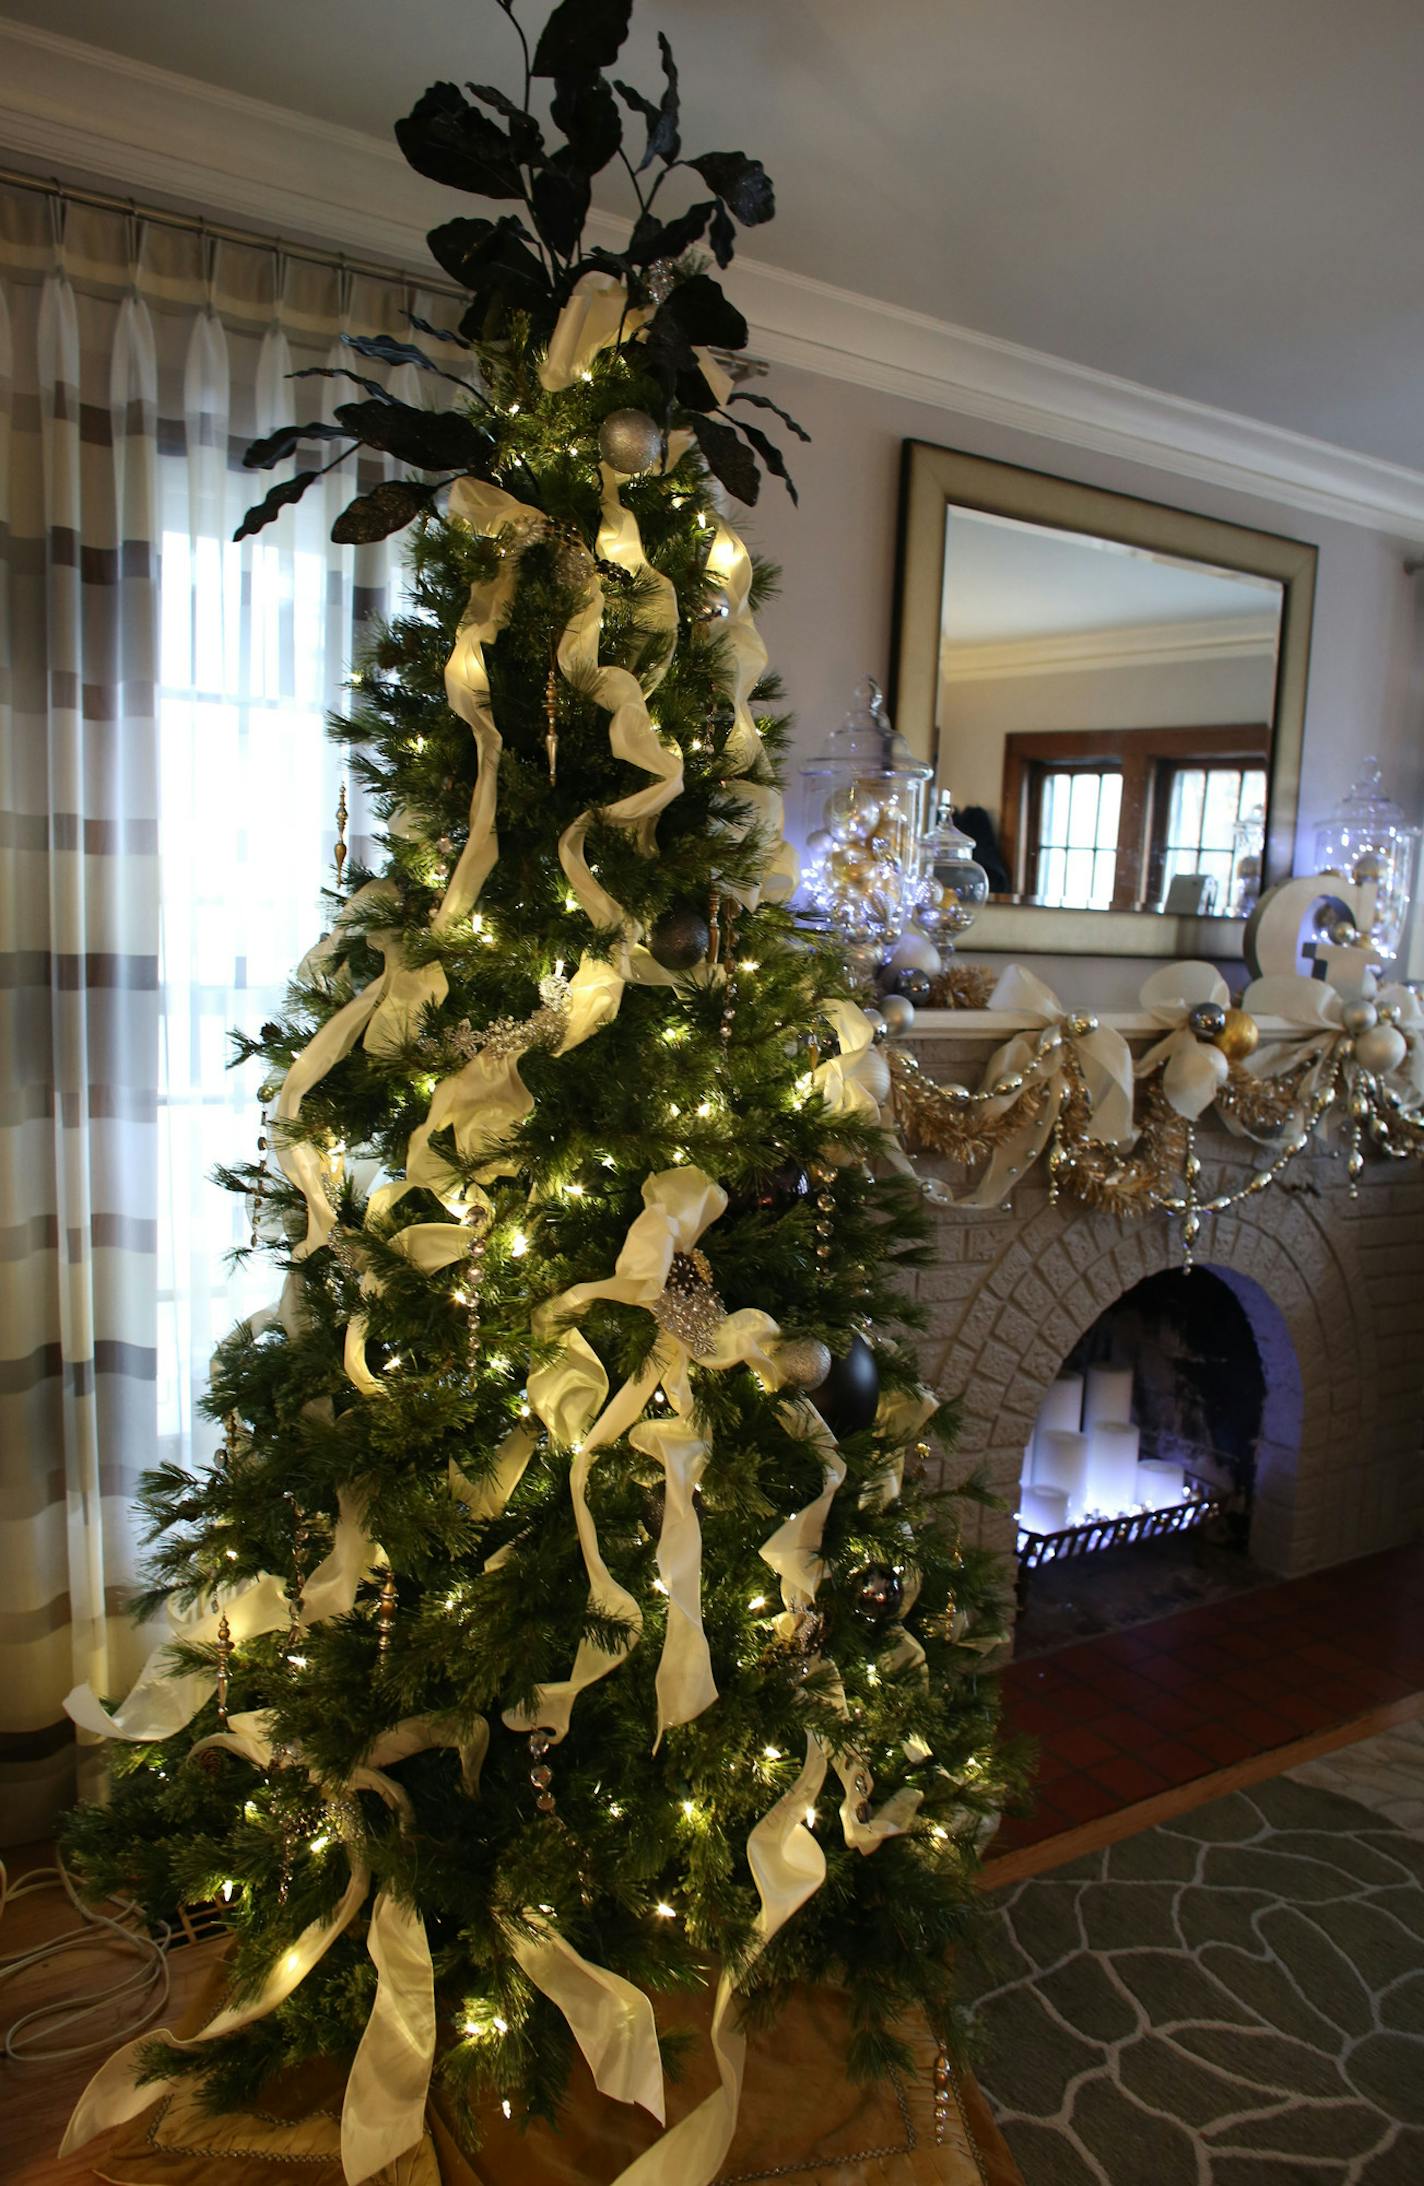
[[[709,2005],[661,2015],[704,2037]],[[844,2040],[844,2002],[805,1991],[752,2042],[724,2186],[779,2177],[796,2186],[1017,2186],[973,2083],[954,2083],[936,2140],[927,2033],[910,2037],[917,2070],[895,2088],[849,2085]],[[669,2123],[711,2090],[711,2077],[707,2042],[693,2042],[669,2088]],[[96,2149],[94,2169],[114,2186],[254,2186],[258,2177],[262,2186],[343,2186],[339,2112],[339,2070],[273,2088],[260,2114],[214,2118],[179,2092]],[[518,2131],[492,2112],[479,2155],[468,2158],[435,2103],[424,2142],[372,2186],[610,2186],[656,2138],[656,2123],[599,2096],[580,2061],[558,2134]]]

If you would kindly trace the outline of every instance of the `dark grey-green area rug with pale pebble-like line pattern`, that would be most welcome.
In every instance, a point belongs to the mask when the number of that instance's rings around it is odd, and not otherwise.
[[[1026,2186],[1424,2186],[1424,1841],[1385,1803],[1277,1777],[1004,1891],[965,1978]]]

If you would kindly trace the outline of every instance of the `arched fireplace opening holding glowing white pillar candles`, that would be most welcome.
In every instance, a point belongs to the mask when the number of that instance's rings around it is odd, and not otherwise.
[[[1207,1266],[1124,1290],[1070,1349],[1024,1452],[1019,1653],[1271,1576],[1299,1423],[1295,1347],[1260,1283]]]

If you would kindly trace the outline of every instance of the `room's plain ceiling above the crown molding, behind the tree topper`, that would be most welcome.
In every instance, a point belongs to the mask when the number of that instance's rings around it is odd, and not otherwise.
[[[372,133],[514,85],[494,0],[0,15]],[[1420,0],[641,0],[621,74],[658,28],[777,181],[757,258],[1424,470]]]

